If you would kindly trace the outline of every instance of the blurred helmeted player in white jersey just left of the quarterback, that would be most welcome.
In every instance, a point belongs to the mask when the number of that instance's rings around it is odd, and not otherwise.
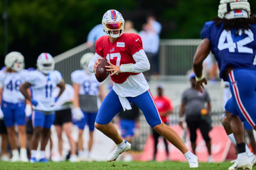
[[[76,122],[79,127],[78,137],[78,156],[84,160],[83,149],[83,132],[84,126],[89,127],[89,143],[88,143],[88,160],[90,160],[90,151],[93,144],[94,122],[98,112],[98,99],[104,99],[103,86],[97,81],[95,74],[88,72],[88,64],[94,54],[88,52],[84,54],[80,60],[83,70],[76,70],[71,74],[71,80],[74,87],[74,109],[76,115],[81,115],[83,118]]]

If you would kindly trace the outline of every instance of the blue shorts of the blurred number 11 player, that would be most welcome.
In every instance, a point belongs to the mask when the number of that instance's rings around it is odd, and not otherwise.
[[[51,128],[55,120],[55,114],[44,114],[41,111],[35,111],[32,114],[33,127]]]

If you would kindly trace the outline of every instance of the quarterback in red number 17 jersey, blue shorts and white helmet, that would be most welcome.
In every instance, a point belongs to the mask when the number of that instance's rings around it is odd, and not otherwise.
[[[190,167],[198,167],[198,158],[186,148],[177,132],[161,121],[156,102],[142,73],[150,69],[150,64],[140,36],[134,33],[124,34],[124,18],[116,10],[108,10],[103,15],[102,26],[107,35],[97,40],[96,53],[88,65],[88,70],[95,72],[100,64],[99,60],[108,59],[110,66],[106,68],[111,72],[114,86],[100,105],[95,120],[95,127],[117,145],[107,160],[116,160],[121,153],[131,149],[131,144],[122,139],[110,122],[122,109],[131,109],[132,102],[140,107],[150,127],[182,151]]]

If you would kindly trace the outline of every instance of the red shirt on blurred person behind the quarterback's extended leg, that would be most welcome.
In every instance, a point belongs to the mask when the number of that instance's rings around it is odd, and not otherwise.
[[[154,99],[156,101],[157,109],[160,114],[161,120],[163,121],[163,123],[167,123],[168,117],[161,116],[161,114],[163,114],[163,112],[173,110],[172,100],[170,100],[170,98],[168,98],[166,96],[163,96],[163,97],[156,96],[156,97],[154,97]]]

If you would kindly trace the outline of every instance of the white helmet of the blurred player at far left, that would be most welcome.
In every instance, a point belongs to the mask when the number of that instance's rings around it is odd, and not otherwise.
[[[20,72],[24,69],[24,56],[20,52],[10,52],[4,59],[4,64],[7,68],[12,68],[15,72]]]

